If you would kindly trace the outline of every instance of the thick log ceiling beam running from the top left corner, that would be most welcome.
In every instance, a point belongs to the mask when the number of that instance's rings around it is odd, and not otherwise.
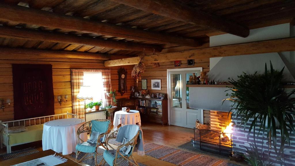
[[[9,6],[6,4],[0,4],[0,20],[20,22],[68,31],[142,40],[153,43],[167,43],[191,47],[201,45],[198,41],[193,39],[166,35],[157,32],[149,32],[136,28],[123,27],[105,22],[95,22],[89,19],[73,17],[65,14],[56,14],[53,12],[31,9],[23,6]]]

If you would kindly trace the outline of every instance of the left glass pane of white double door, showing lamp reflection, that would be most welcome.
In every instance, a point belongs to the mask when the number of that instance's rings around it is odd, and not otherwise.
[[[182,87],[181,74],[171,74],[171,95],[173,108],[182,108]]]

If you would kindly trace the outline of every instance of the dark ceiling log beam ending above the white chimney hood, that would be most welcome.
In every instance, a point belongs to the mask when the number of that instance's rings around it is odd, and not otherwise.
[[[249,35],[249,28],[238,23],[222,19],[221,17],[214,16],[182,5],[173,0],[112,0],[132,6],[146,12],[151,12],[164,17],[176,19],[183,22],[188,22],[193,25],[201,27],[212,28],[221,32],[230,33],[240,37],[247,37]]]

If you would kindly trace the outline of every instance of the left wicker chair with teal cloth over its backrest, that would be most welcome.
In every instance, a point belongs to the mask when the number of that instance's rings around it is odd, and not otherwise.
[[[108,149],[106,146],[106,139],[103,140],[104,138],[108,137],[108,134],[111,132],[111,128],[112,128],[112,123],[110,120],[106,120],[106,119],[96,119],[96,120],[92,120],[89,122],[84,123],[82,126],[80,126],[78,128],[77,131],[77,145],[76,145],[76,162],[81,162],[81,160],[86,157],[86,155],[88,153],[94,153],[94,160],[95,160],[95,164],[97,165],[97,148],[99,146],[104,147],[104,149]],[[84,142],[81,138],[79,138],[79,135],[81,133],[89,133],[90,136],[92,134],[93,131],[99,132],[101,134],[99,134],[98,138],[97,138],[97,142],[96,144],[89,144],[87,142]],[[82,142],[82,143],[80,143]],[[78,160],[78,155],[84,152],[86,153],[80,160]]]

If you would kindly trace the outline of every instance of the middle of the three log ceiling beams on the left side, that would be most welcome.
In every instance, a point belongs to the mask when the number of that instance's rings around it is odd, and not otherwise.
[[[23,40],[37,40],[55,43],[69,43],[78,45],[89,45],[94,47],[115,48],[121,50],[161,52],[162,48],[158,45],[138,44],[114,40],[105,40],[99,38],[87,38],[78,35],[70,35],[63,33],[42,32],[40,30],[29,30],[24,28],[4,27],[0,26],[0,37],[17,38]]]

